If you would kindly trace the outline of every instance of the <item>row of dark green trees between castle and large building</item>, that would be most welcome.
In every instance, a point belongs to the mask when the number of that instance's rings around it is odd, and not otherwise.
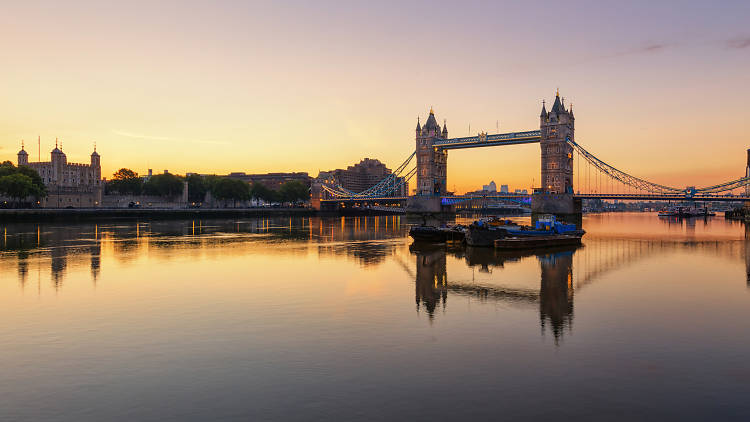
[[[107,182],[107,193],[122,195],[174,196],[182,192],[183,181],[188,184],[188,200],[202,202],[206,193],[222,201],[246,201],[252,198],[266,202],[299,202],[310,199],[308,187],[298,181],[283,184],[278,191],[256,183],[252,186],[241,180],[219,176],[191,174],[180,177],[173,174],[159,174],[143,181],[138,173],[130,169],[120,169]]]

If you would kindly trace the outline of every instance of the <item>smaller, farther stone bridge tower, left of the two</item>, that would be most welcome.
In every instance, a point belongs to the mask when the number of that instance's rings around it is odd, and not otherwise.
[[[438,139],[448,138],[447,125],[442,130],[430,108],[424,126],[417,119],[417,196],[445,195],[447,191],[448,152],[434,147]]]

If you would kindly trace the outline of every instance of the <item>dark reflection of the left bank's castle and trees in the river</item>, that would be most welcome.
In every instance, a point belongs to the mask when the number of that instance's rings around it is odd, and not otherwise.
[[[252,220],[194,220],[112,222],[108,224],[13,224],[3,228],[0,263],[15,252],[19,283],[29,277],[29,260],[49,262],[50,281],[60,289],[69,265],[88,263],[91,280],[101,273],[103,245],[122,263],[150,249],[167,252],[273,243],[283,253],[300,253],[302,242],[318,244],[321,255],[354,258],[363,266],[377,265],[393,255],[408,228],[399,216],[356,218],[272,218]]]

